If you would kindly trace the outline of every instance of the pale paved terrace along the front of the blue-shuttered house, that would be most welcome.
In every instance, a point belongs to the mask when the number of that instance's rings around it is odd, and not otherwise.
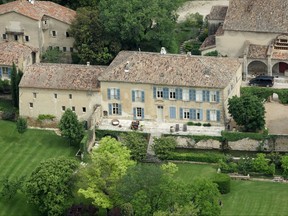
[[[115,131],[132,131],[130,129],[131,120],[119,120],[118,126],[113,126],[111,123],[112,119],[103,119],[99,125],[99,129],[102,130],[115,130]],[[143,126],[141,126],[143,125]],[[174,126],[176,123],[165,123],[156,121],[140,121],[139,128],[143,128],[143,132],[152,134],[171,134],[170,127]],[[204,127],[204,126],[187,126],[187,131],[183,131],[183,123],[179,123],[179,131],[173,132],[172,134],[179,135],[208,135],[208,136],[221,136],[221,131],[224,130],[223,127]]]

